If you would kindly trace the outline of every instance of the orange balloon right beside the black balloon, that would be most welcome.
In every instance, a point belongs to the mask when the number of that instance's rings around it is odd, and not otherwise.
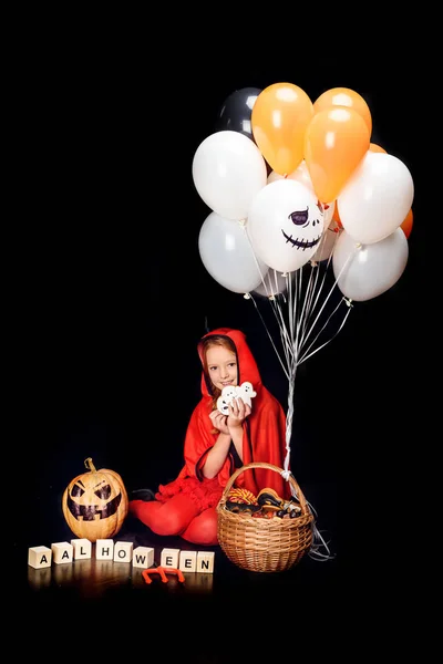
[[[303,159],[313,105],[301,87],[274,83],[257,96],[250,117],[254,139],[272,170],[289,175]]]

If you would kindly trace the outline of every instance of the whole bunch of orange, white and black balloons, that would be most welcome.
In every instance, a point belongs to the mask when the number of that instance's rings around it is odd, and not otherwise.
[[[234,292],[268,292],[270,271],[328,258],[346,298],[390,289],[408,262],[414,184],[371,133],[368,103],[348,87],[313,102],[285,82],[229,95],[192,166],[212,210],[198,237],[209,274]]]

